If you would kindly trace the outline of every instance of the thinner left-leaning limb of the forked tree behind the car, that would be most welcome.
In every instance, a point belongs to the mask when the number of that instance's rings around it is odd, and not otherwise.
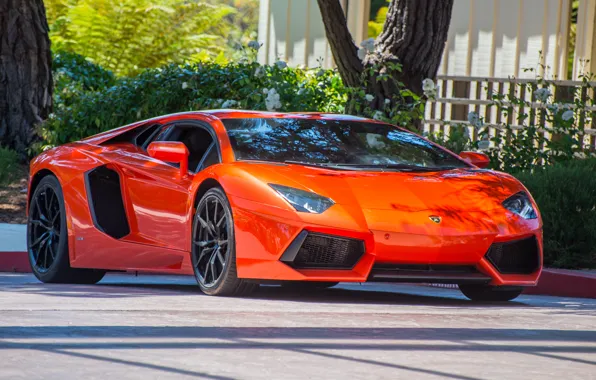
[[[358,47],[354,44],[348,29],[343,8],[339,0],[317,1],[339,75],[346,86],[359,87],[361,85],[360,74],[364,66],[358,58]]]

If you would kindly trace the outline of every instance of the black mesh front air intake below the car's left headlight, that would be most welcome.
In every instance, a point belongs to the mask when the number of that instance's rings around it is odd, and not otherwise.
[[[308,233],[289,263],[300,269],[351,269],[364,254],[364,242]]]

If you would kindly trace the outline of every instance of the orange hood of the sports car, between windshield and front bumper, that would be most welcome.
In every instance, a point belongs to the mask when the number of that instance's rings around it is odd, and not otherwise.
[[[302,165],[244,164],[267,183],[296,187],[363,210],[488,211],[523,186],[503,173],[480,169],[442,172],[363,172]]]

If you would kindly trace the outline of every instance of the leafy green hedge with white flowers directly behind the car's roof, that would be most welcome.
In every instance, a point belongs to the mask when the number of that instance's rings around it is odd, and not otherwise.
[[[37,150],[174,112],[237,108],[340,113],[346,100],[335,71],[251,62],[169,65],[121,78],[101,91],[75,89],[71,94],[56,98],[54,113],[41,126],[44,141]]]

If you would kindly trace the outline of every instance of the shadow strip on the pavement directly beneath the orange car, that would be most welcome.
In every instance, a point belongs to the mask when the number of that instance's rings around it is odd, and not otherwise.
[[[14,275],[13,275],[14,277]],[[18,282],[3,281],[0,292],[38,294],[50,297],[118,299],[154,296],[204,296],[192,276],[112,275],[97,285],[43,284],[33,276]],[[261,285],[245,299],[325,304],[416,305],[466,308],[549,308],[552,314],[596,315],[596,302],[573,298],[521,296],[510,302],[472,302],[458,290],[412,284],[344,283],[329,289],[300,289]],[[536,300],[540,302],[536,302]],[[586,302],[588,301],[588,302]]]

